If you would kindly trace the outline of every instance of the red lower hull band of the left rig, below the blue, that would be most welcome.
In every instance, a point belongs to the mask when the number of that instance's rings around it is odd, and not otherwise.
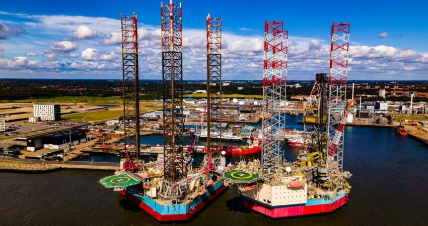
[[[185,214],[168,214],[168,215],[162,215],[158,212],[156,212],[154,209],[152,209],[150,206],[146,205],[146,203],[141,202],[139,199],[135,198],[135,196],[126,193],[125,191],[120,191],[120,193],[125,196],[127,199],[131,200],[133,203],[138,205],[141,209],[149,213],[151,216],[153,216],[155,219],[157,219],[160,222],[168,222],[168,221],[186,221],[192,218],[196,213],[199,212],[203,207],[205,207],[207,204],[209,204],[213,199],[215,199],[217,196],[223,193],[223,191],[227,188],[227,186],[222,185],[219,187],[219,189],[216,190],[214,194],[210,194],[207,196],[203,201],[201,201],[199,204],[197,204],[193,209],[191,209],[189,212]]]

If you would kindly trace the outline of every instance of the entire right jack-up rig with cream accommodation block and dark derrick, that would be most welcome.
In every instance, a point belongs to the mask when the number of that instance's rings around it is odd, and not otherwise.
[[[275,23],[275,22],[274,22]],[[276,22],[278,23],[278,22]],[[249,209],[272,218],[330,212],[348,200],[349,172],[342,171],[343,128],[353,100],[345,99],[349,24],[333,23],[330,75],[317,74],[305,108],[305,144],[298,161],[282,161],[276,130],[282,129],[282,100],[271,87],[280,86],[287,65],[282,23],[271,31],[265,25],[262,159],[240,163],[233,173],[223,174],[225,184],[238,185]],[[283,54],[282,54],[283,55]],[[271,58],[268,58],[271,57]],[[287,59],[287,58],[285,58]],[[270,78],[269,76],[271,75]],[[276,101],[271,101],[274,98]],[[277,104],[277,105],[275,105]],[[274,123],[275,122],[275,123]],[[279,125],[279,127],[278,127]],[[260,175],[259,177],[257,175]],[[248,178],[248,179],[245,179]]]

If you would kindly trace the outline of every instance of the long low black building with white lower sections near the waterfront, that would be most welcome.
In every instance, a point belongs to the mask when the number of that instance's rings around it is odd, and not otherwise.
[[[86,131],[71,129],[45,135],[27,138],[27,151],[38,149],[63,149],[79,143],[86,142]]]

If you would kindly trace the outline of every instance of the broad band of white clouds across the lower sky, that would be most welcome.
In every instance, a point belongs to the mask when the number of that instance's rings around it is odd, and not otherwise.
[[[13,15],[23,17],[26,30],[31,34],[49,30],[54,40],[61,40],[63,34],[73,34],[73,40],[64,40],[52,44],[51,48],[46,48],[43,40],[38,41],[38,47],[43,51],[44,58],[29,67],[22,64],[21,69],[29,71],[40,71],[46,73],[73,73],[75,71],[99,72],[100,74],[120,74],[121,71],[121,34],[117,25],[119,20],[100,17],[82,17],[67,15]],[[6,23],[6,22],[4,22]],[[86,34],[78,32],[80,26],[85,25],[96,31],[95,45],[88,41],[81,41],[92,37],[93,32]],[[9,27],[13,27],[8,24]],[[5,29],[2,27],[2,31]],[[86,29],[87,30],[87,29]],[[242,28],[240,30],[246,30]],[[9,31],[9,30],[8,30]],[[256,31],[257,36],[245,36],[223,31],[223,76],[225,79],[261,79],[263,73],[263,31]],[[79,35],[78,35],[79,33]],[[85,33],[85,34],[83,34]],[[89,34],[89,35],[88,35]],[[8,33],[8,36],[10,34]],[[396,35],[385,33],[386,37]],[[93,37],[93,38],[94,38]],[[381,36],[379,36],[381,37]],[[71,37],[69,37],[71,38]],[[19,39],[17,39],[19,40]],[[27,40],[26,40],[27,41]],[[162,71],[161,59],[161,31],[159,26],[140,25],[138,28],[139,42],[139,64],[142,78],[160,78]],[[206,73],[206,31],[205,29],[183,29],[183,75],[185,79],[201,79]],[[23,41],[22,43],[26,43]],[[35,42],[34,42],[35,43]],[[327,38],[316,39],[312,37],[289,38],[289,78],[290,79],[313,79],[316,72],[328,71],[330,45]],[[19,45],[19,43],[17,44]],[[79,46],[80,45],[80,46]],[[9,51],[9,46],[8,47]],[[82,48],[82,52],[75,51]],[[45,48],[45,49],[42,49]],[[33,50],[33,49],[32,49]],[[25,52],[26,50],[21,52]],[[41,54],[41,51],[39,51]],[[73,58],[73,59],[70,59]],[[76,59],[78,58],[78,59]],[[7,68],[19,67],[21,61],[25,59],[10,59],[0,61],[0,72]],[[12,60],[14,60],[12,62]],[[28,59],[27,59],[28,60]],[[15,62],[16,61],[16,62]],[[31,69],[29,69],[31,68]],[[398,49],[392,46],[366,46],[353,45],[351,42],[349,50],[349,78],[382,78],[386,75],[399,74],[409,76],[409,78],[427,78],[428,76],[428,53],[416,52],[408,49]],[[82,73],[81,73],[82,74]],[[385,77],[381,77],[385,75]],[[375,77],[377,76],[377,77]],[[390,76],[394,78],[396,76]]]

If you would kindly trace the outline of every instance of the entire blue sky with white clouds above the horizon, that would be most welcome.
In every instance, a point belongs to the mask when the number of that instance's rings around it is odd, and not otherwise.
[[[166,1],[164,1],[165,3]],[[121,79],[120,14],[138,16],[139,78],[161,79],[160,1],[6,1],[0,78]],[[175,4],[180,3],[174,1]],[[348,79],[428,79],[428,1],[183,0],[183,78],[206,78],[206,15],[223,19],[223,80],[261,80],[264,22],[289,30],[288,78],[328,72],[350,23]]]

